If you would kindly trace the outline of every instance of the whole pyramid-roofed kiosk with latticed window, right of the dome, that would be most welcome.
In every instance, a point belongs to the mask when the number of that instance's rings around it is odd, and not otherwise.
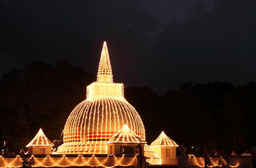
[[[164,131],[150,144],[151,150],[161,158],[161,164],[177,164],[176,148],[179,145],[171,140]]]

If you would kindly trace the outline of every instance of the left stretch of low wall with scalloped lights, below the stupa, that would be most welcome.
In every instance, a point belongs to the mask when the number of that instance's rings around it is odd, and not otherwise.
[[[24,155],[0,156],[0,167],[20,167]],[[135,166],[136,155],[34,155],[33,167],[62,166]]]

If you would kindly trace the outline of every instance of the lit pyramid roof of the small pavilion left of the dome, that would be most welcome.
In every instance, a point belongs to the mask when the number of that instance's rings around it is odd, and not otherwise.
[[[53,146],[53,143],[44,135],[43,130],[40,128],[35,138],[26,147],[29,146]]]

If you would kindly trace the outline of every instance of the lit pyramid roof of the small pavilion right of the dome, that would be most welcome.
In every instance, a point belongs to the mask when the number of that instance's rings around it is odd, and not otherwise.
[[[150,146],[179,146],[173,140],[171,140],[164,131],[153,141]]]

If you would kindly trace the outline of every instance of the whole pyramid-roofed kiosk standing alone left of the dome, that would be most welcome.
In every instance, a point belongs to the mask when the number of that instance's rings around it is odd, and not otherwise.
[[[44,135],[43,130],[40,128],[36,136],[26,146],[29,152],[33,155],[36,154],[51,154],[53,143]]]

